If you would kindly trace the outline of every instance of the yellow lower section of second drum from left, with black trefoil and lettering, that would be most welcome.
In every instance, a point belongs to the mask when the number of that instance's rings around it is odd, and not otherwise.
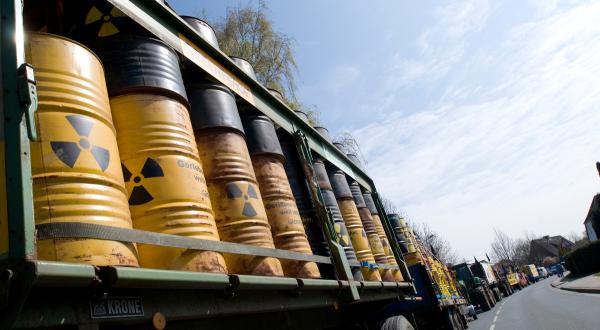
[[[110,99],[129,208],[136,229],[219,240],[188,110],[137,93]],[[213,251],[138,245],[142,267],[226,273]]]

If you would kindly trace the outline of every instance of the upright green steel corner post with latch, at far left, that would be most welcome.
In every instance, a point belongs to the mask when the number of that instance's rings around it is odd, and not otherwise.
[[[32,130],[28,130],[27,117],[32,113],[27,111],[29,104],[24,104],[23,95],[19,94],[22,81],[17,78],[19,68],[25,63],[22,1],[4,0],[0,8],[8,257],[31,260],[35,257],[35,246],[28,135],[35,134],[28,134]]]

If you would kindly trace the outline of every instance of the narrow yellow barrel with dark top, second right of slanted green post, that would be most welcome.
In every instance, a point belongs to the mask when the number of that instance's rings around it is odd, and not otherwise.
[[[350,187],[346,181],[346,175],[340,170],[330,169],[328,171],[329,180],[333,186],[333,192],[340,207],[340,212],[350,233],[352,246],[356,257],[362,264],[362,273],[367,281],[381,281],[381,276],[377,271],[377,264],[373,255],[372,247],[369,243],[367,232],[365,231],[360,213],[354,204]]]

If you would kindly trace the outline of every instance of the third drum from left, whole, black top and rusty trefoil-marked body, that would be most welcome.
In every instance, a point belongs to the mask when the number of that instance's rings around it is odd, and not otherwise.
[[[223,241],[275,248],[235,96],[218,84],[187,86],[192,127]],[[231,273],[283,276],[279,260],[226,254]]]

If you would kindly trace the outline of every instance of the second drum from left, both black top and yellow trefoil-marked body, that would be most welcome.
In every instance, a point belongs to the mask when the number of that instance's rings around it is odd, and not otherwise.
[[[106,38],[98,46],[111,83],[110,104],[134,228],[218,241],[177,55],[146,37]],[[143,267],[227,272],[217,252],[138,248]]]

